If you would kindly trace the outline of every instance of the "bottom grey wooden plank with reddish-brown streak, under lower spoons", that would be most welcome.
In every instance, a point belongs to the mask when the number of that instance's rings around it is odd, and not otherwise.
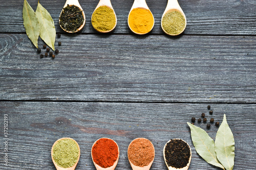
[[[162,150],[170,138],[181,138],[192,150],[189,169],[219,169],[206,163],[195,151],[186,122],[192,116],[206,117],[222,122],[223,114],[236,142],[234,170],[255,169],[256,117],[254,104],[211,104],[214,114],[209,115],[207,104],[152,104],[152,103],[84,103],[84,102],[0,102],[1,121],[8,114],[9,166],[4,169],[55,169],[51,161],[51,147],[61,137],[72,137],[80,145],[81,157],[77,169],[95,169],[91,147],[101,137],[114,139],[120,148],[116,169],[131,169],[127,147],[137,137],[150,139],[156,151],[152,170],[167,169]],[[215,139],[218,128],[210,130]],[[3,143],[3,138],[0,139]],[[0,150],[1,159],[3,149]],[[3,169],[3,168],[1,168]]]

